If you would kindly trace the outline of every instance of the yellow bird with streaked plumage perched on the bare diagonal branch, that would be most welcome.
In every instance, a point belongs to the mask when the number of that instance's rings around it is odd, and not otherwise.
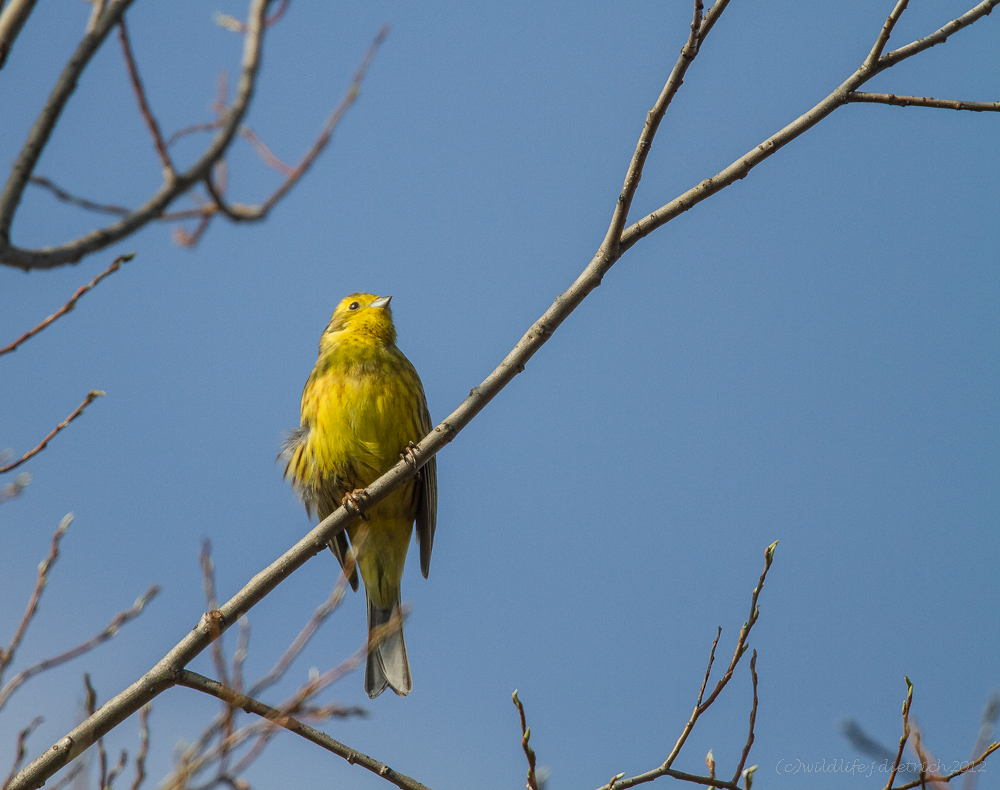
[[[319,359],[302,391],[302,420],[282,445],[285,478],[322,520],[387,472],[431,430],[420,377],[396,348],[391,296],[355,293],[343,299],[319,341]],[[417,523],[420,570],[427,578],[437,520],[437,464],[431,458],[407,481],[330,541],[330,550],[368,596],[365,691],[386,686],[399,696],[413,682],[403,642],[399,586]],[[350,537],[350,545],[348,544]],[[352,555],[352,549],[356,552]]]

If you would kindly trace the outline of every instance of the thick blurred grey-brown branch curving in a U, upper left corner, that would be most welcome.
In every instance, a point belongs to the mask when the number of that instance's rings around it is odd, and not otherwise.
[[[48,142],[52,127],[58,120],[66,99],[69,98],[69,92],[75,85],[80,70],[86,65],[85,62],[77,62],[83,57],[79,53],[83,50],[84,44],[88,44],[98,34],[101,34],[101,38],[103,38],[107,34],[106,28],[116,24],[126,7],[132,2],[133,0],[118,0],[118,2],[112,3],[105,11],[94,33],[85,37],[84,42],[78,48],[78,54],[63,70],[63,74],[53,90],[52,97],[42,110],[35,126],[32,127],[28,141],[14,163],[7,184],[4,186],[3,192],[0,193],[0,262],[8,266],[27,271],[29,269],[51,269],[68,263],[76,263],[83,256],[104,249],[135,233],[149,222],[162,216],[167,206],[177,197],[189,191],[195,184],[204,181],[206,175],[211,172],[229,148],[243,122],[256,87],[264,36],[264,14],[268,0],[251,0],[251,21],[243,47],[243,66],[240,83],[236,90],[236,98],[227,112],[225,124],[197,162],[185,172],[178,173],[176,177],[164,181],[156,193],[142,206],[107,227],[93,230],[57,247],[28,250],[10,244],[10,226],[14,212],[21,201],[24,187],[28,183],[28,178],[34,170],[42,148]],[[87,49],[84,54],[89,60],[92,52]]]

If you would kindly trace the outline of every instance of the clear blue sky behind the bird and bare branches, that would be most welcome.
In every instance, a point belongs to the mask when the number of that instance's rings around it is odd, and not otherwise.
[[[970,6],[914,4],[890,47]],[[660,128],[633,219],[827,95],[890,8],[733,2]],[[241,40],[215,11],[245,14],[221,0],[128,14],[168,131],[211,117],[220,70],[235,82]],[[88,13],[38,4],[0,72],[0,160],[16,156]],[[869,88],[995,100],[995,16]],[[12,699],[0,766],[34,715],[33,753],[76,722],[82,672],[106,700],[197,622],[203,537],[228,598],[309,528],[274,458],[344,295],[394,297],[435,419],[500,362],[603,238],[690,8],[294,2],[266,39],[248,118],[279,156],[310,144],[384,22],[360,100],[265,223],[216,222],[194,251],[150,227],[76,266],[0,269],[6,343],[115,254],[137,253],[0,359],[0,446],[18,455],[88,390],[108,393],[0,506],[0,642],[67,512],[76,521],[19,666],[163,587],[115,640]],[[204,142],[178,147],[181,161]],[[844,107],[630,250],[439,456],[431,575],[411,558],[403,586],[413,693],[369,702],[356,672],[324,700],[371,715],[324,729],[430,787],[519,786],[517,688],[550,788],[650,769],[690,714],[718,625],[731,654],[764,548],[780,540],[751,640],[757,782],[859,786],[779,766],[860,757],[840,734],[849,717],[894,742],[904,674],[930,749],[967,759],[1000,685],[998,142],[995,114]],[[112,37],[37,172],[137,205],[159,170]],[[232,199],[256,202],[280,177],[238,142],[229,182]],[[33,189],[13,238],[55,244],[95,219]],[[248,674],[270,668],[335,569],[316,557],[251,613]],[[349,597],[266,701],[350,655],[364,618]],[[212,672],[207,657],[192,668]],[[703,770],[711,748],[731,774],[749,709],[741,665],[676,767]],[[157,700],[154,780],[215,710],[181,689]],[[110,746],[134,751],[134,731]],[[383,786],[291,735],[247,778]]]

